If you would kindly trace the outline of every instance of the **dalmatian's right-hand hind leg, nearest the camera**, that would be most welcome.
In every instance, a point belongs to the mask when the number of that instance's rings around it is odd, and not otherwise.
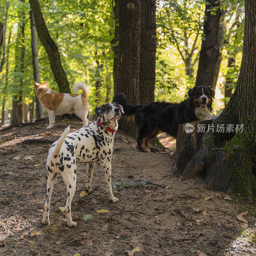
[[[74,166],[74,165],[72,165]],[[76,222],[72,220],[71,217],[71,202],[73,199],[73,196],[76,192],[76,165],[74,168],[70,169],[64,169],[64,171],[61,173],[63,180],[66,183],[67,186],[67,202],[65,206],[65,211],[67,215],[67,222],[69,227],[76,227]]]

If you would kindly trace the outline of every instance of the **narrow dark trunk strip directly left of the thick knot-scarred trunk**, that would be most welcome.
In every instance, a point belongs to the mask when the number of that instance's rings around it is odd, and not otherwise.
[[[117,91],[117,66],[118,66],[118,51],[119,51],[119,0],[115,0],[113,6],[114,18],[115,18],[115,35],[112,40],[113,49],[113,80],[114,80],[114,91]]]

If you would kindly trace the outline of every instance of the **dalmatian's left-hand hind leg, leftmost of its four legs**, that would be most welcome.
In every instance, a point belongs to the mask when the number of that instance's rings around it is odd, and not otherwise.
[[[47,172],[47,173],[48,173],[47,199],[46,199],[46,202],[44,203],[44,216],[43,216],[43,220],[42,220],[42,224],[45,224],[45,225],[50,224],[50,220],[49,220],[50,200],[51,200],[53,187],[57,180],[57,174],[58,174],[57,172],[55,172],[55,173]]]

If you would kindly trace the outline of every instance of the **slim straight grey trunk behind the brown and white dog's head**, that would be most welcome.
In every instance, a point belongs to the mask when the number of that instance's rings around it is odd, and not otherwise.
[[[36,37],[36,25],[34,20],[34,14],[32,11],[30,13],[30,28],[31,28],[31,50],[32,50],[32,64],[33,64],[33,76],[34,80],[40,84],[40,77],[39,77],[39,65],[38,65],[38,55],[37,55],[37,37]],[[40,119],[44,117],[43,107],[40,103],[39,99],[36,97],[35,93],[35,100],[36,100],[36,119]],[[34,111],[34,106],[33,106]],[[33,119],[33,118],[32,118]],[[31,120],[32,122],[32,120]]]

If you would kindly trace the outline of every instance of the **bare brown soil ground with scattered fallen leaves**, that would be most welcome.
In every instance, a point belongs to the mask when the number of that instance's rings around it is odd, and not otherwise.
[[[244,203],[200,180],[183,179],[171,151],[139,152],[135,140],[119,131],[112,158],[119,202],[108,200],[99,164],[92,194],[79,196],[86,165],[78,164],[72,201],[77,227],[68,227],[62,212],[66,186],[60,176],[52,194],[51,224],[42,225],[46,158],[67,123],[52,130],[46,126],[0,132],[0,255],[256,255],[255,201]],[[71,124],[71,131],[80,127]],[[107,212],[97,212],[101,209]]]

